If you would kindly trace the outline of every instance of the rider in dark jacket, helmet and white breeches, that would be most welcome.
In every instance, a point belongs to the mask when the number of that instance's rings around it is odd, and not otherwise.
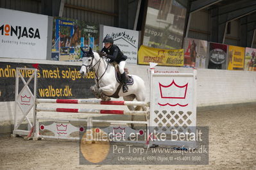
[[[110,59],[110,62],[117,62],[119,64],[119,71],[121,73],[121,78],[123,82],[123,93],[128,91],[126,85],[126,75],[124,72],[124,65],[127,59],[127,56],[124,56],[123,52],[119,49],[117,45],[114,44],[114,40],[111,36],[105,36],[103,39],[104,47],[99,53],[99,56],[104,56]]]

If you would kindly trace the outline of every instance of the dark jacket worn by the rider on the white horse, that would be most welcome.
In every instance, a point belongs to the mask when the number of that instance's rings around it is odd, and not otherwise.
[[[123,52],[119,49],[117,45],[112,44],[109,49],[106,49],[105,47],[101,50],[101,52],[107,53],[107,58],[110,59],[110,62],[117,62],[120,63],[121,61],[125,61],[127,59],[127,56],[124,56]]]

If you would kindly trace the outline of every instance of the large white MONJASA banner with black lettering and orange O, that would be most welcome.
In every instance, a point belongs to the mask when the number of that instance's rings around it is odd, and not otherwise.
[[[48,17],[0,8],[0,58],[46,59]]]

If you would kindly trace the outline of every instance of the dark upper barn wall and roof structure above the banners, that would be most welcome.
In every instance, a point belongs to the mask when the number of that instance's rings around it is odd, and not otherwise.
[[[137,31],[143,32],[148,1],[1,0],[0,7],[126,29],[135,27]],[[256,1],[176,1],[187,7],[184,36],[241,47],[256,47]]]

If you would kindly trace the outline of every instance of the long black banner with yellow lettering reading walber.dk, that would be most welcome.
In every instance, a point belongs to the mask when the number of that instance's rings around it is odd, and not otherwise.
[[[37,98],[94,98],[90,91],[90,86],[94,84],[94,72],[81,77],[80,66],[0,62],[0,102],[15,100],[17,67],[38,68]],[[25,81],[28,81],[32,74],[31,71],[21,73]],[[30,84],[33,84],[33,81]],[[23,86],[22,81],[19,81],[19,86]]]

